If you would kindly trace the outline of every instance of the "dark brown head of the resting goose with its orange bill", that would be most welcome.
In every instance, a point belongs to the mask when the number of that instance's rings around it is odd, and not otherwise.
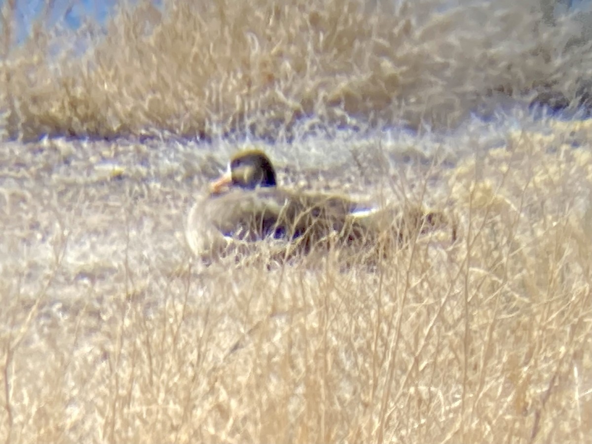
[[[222,194],[230,187],[255,189],[276,186],[275,170],[269,157],[260,150],[240,152],[231,157],[227,172],[210,184],[211,194]]]

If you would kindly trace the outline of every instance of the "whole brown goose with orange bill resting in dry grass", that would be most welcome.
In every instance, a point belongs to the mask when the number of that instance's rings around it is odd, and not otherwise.
[[[218,255],[229,246],[248,250],[260,240],[308,251],[326,239],[350,244],[384,233],[401,238],[441,221],[439,213],[421,208],[378,210],[339,194],[282,188],[269,157],[249,150],[231,157],[210,194],[191,208],[186,238],[199,256]]]

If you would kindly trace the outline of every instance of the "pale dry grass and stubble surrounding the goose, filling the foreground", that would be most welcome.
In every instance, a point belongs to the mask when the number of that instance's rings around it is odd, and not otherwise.
[[[5,145],[0,437],[587,442],[592,130],[547,128],[451,169],[384,160],[368,189],[448,201],[458,240],[370,265],[333,249],[269,268],[261,249],[202,266],[183,226],[208,176],[195,146],[166,165],[160,142]],[[377,147],[400,144],[350,144]],[[110,150],[128,166],[105,176]]]

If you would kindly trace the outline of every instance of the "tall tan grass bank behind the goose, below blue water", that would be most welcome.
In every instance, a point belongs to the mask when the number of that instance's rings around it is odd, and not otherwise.
[[[291,137],[311,127],[448,128],[497,92],[553,106],[589,101],[590,50],[576,21],[541,21],[539,0],[149,1],[102,33],[47,30],[15,47],[3,7],[4,137]],[[52,7],[52,2],[47,3]],[[72,35],[73,34],[73,35]],[[81,56],[76,39],[87,41]],[[589,104],[588,104],[589,105]],[[287,134],[286,134],[287,133]]]

